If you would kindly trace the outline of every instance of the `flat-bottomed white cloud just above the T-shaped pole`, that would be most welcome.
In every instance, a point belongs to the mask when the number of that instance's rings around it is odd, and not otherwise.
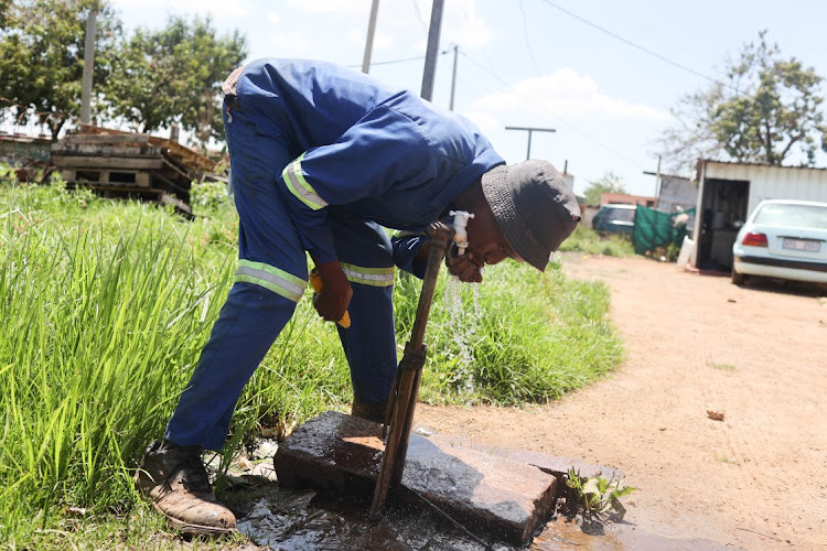
[[[634,118],[659,122],[669,114],[643,104],[601,94],[597,83],[572,68],[515,83],[504,91],[488,94],[473,102],[472,109],[494,112],[522,112],[527,117]]]

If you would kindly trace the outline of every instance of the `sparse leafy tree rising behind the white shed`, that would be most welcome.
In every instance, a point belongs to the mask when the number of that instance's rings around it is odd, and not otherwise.
[[[720,82],[679,100],[677,125],[659,139],[662,154],[680,172],[699,158],[812,166],[819,148],[827,151],[821,82],[812,67],[783,58],[762,31]]]

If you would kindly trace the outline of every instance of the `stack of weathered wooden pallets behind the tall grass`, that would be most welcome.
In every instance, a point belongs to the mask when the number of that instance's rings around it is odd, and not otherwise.
[[[83,126],[52,144],[52,164],[69,188],[173,205],[192,217],[190,188],[215,163],[173,140]]]

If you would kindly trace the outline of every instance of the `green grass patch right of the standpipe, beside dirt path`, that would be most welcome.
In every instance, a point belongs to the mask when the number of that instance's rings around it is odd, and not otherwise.
[[[545,403],[614,368],[623,348],[605,316],[604,284],[544,274],[512,261],[487,267],[479,295],[462,292],[461,325],[438,287],[422,399],[434,403]],[[458,333],[470,350],[462,369]],[[400,337],[401,339],[401,337]],[[469,371],[469,375],[458,371]],[[470,377],[470,380],[468,378]]]

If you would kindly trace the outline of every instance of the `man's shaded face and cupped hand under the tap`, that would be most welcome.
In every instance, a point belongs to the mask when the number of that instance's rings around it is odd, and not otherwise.
[[[496,264],[506,258],[523,260],[508,245],[487,205],[474,212],[465,231],[469,242],[465,253],[447,260],[449,271],[460,280],[479,282],[482,281],[481,270],[485,264]]]

